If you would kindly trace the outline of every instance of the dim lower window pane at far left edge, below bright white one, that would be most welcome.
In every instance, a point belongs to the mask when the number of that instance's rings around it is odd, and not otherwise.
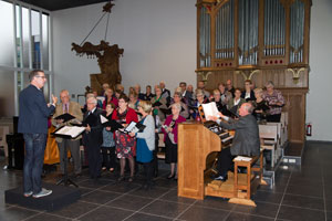
[[[14,72],[0,70],[0,117],[14,115]]]

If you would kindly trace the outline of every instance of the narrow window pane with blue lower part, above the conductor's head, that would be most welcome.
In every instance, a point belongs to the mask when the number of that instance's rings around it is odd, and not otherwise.
[[[31,10],[32,25],[32,67],[40,69],[40,18],[39,12]]]

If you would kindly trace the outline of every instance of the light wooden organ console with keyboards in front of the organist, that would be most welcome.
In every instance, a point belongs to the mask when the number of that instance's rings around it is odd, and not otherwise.
[[[178,127],[178,196],[203,200],[218,152],[228,147],[232,135],[206,122],[183,123]],[[209,196],[216,196],[210,193]],[[231,198],[230,191],[228,197]]]

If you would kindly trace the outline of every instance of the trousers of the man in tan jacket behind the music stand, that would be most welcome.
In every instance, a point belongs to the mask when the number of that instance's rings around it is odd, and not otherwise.
[[[71,151],[72,158],[74,160],[74,172],[81,173],[81,157],[80,157],[80,139],[62,139],[62,141],[58,143],[59,152],[60,152],[60,170],[64,173],[64,160],[68,160],[66,152],[64,152],[64,148]]]

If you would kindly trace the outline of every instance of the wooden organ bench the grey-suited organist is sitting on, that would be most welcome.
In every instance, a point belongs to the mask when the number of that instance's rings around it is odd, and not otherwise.
[[[234,159],[235,167],[234,167],[234,198],[229,199],[231,203],[238,204],[246,204],[256,207],[255,201],[251,200],[251,194],[256,192],[259,185],[267,185],[267,182],[262,179],[263,172],[263,150],[260,150],[260,155],[256,157],[248,157],[251,158],[249,161],[245,160],[237,160]],[[253,167],[257,161],[259,162],[259,167]],[[238,168],[245,167],[247,169],[247,183],[240,185],[238,182]],[[243,196],[245,191],[245,198]],[[241,193],[241,197],[240,197]]]

